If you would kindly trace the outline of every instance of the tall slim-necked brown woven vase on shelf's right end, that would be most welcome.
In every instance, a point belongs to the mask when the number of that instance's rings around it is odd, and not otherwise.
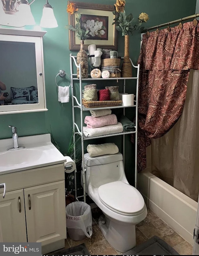
[[[124,60],[121,68],[121,77],[132,77],[132,65],[129,59],[129,36],[124,36]]]

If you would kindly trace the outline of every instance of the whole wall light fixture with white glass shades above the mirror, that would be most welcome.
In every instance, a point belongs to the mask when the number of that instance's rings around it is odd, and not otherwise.
[[[0,25],[10,27],[35,25],[35,19],[30,9],[33,2],[35,0],[30,3],[28,0],[0,0]],[[44,5],[40,26],[46,28],[58,27],[53,8],[48,0]]]

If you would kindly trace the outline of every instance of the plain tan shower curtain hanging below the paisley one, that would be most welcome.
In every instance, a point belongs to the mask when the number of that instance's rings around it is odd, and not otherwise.
[[[151,140],[152,173],[193,200],[199,192],[199,71],[191,70],[182,116],[163,137]]]

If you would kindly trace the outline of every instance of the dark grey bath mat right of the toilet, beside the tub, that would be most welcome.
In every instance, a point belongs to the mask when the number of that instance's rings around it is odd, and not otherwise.
[[[157,236],[153,236],[146,242],[139,244],[126,255],[139,254],[139,255],[180,255],[169,244],[164,242]]]

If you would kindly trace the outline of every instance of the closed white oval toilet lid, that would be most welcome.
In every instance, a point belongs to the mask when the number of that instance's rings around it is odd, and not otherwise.
[[[101,185],[98,194],[104,205],[122,215],[139,215],[145,209],[145,202],[140,192],[122,181]]]

